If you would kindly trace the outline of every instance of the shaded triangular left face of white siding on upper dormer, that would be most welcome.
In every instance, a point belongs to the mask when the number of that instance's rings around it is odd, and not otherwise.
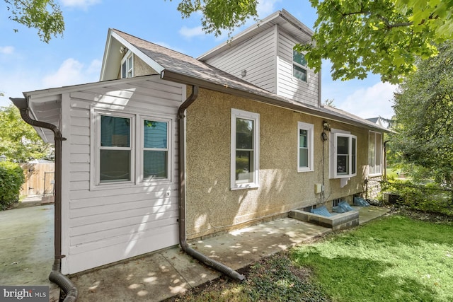
[[[207,59],[206,63],[276,93],[275,50],[275,30],[270,28],[247,42]],[[246,70],[246,76],[242,76],[243,70]]]

